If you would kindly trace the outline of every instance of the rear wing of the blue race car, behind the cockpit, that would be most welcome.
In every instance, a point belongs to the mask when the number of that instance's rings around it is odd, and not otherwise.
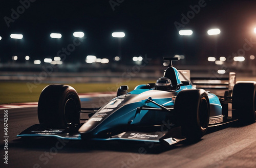
[[[190,80],[197,89],[232,91],[236,84],[236,73],[229,72],[229,77],[191,77]]]

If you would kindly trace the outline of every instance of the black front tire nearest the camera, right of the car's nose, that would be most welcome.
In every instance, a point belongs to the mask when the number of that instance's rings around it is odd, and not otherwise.
[[[180,91],[174,109],[182,134],[189,142],[199,141],[209,125],[210,105],[207,93],[202,89]]]

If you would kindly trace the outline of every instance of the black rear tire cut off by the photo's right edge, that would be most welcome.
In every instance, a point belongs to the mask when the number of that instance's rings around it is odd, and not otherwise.
[[[255,122],[256,82],[241,81],[234,85],[232,93],[232,116],[242,124]]]

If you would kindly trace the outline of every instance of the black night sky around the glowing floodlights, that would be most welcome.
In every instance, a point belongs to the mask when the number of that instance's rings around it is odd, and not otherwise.
[[[69,55],[69,62],[84,62],[87,55],[110,60],[121,55],[122,60],[131,60],[140,54],[150,58],[182,54],[193,62],[209,56],[228,57],[243,48],[245,39],[256,43],[256,1],[37,0],[30,2],[28,9],[20,12],[8,27],[4,18],[12,19],[12,11],[17,11],[20,2],[28,0],[0,3],[2,63],[12,61],[13,55],[20,58],[19,62],[25,62],[26,55],[31,60],[53,58],[73,43],[76,31],[84,32],[86,38]],[[193,35],[180,36],[174,23],[182,24],[182,14],[187,15],[193,11],[191,6],[199,3],[203,7],[182,27],[193,30]],[[207,30],[212,28],[220,29],[221,34],[208,36]],[[125,33],[121,40],[111,36],[119,31]],[[24,38],[11,39],[12,33],[23,34]],[[50,33],[60,33],[62,38],[52,39]],[[246,51],[246,58],[256,54],[253,46]]]

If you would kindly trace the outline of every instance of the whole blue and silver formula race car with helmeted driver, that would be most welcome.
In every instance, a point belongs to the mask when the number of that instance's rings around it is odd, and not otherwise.
[[[173,145],[184,139],[196,142],[208,127],[233,121],[255,122],[256,82],[229,78],[190,78],[169,61],[156,83],[128,92],[121,86],[117,97],[99,108],[83,108],[77,92],[67,85],[49,85],[38,101],[38,120],[17,137],[51,136],[88,141],[145,141]],[[225,80],[227,82],[225,82]],[[193,81],[193,83],[191,82]],[[217,96],[214,92],[223,95]],[[89,114],[86,122],[80,114]]]

